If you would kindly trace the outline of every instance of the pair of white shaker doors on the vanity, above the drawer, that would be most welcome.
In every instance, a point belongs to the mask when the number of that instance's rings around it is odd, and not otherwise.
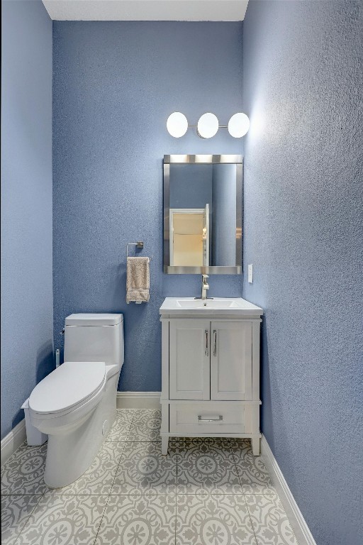
[[[169,322],[169,398],[250,400],[252,323],[175,319]]]

